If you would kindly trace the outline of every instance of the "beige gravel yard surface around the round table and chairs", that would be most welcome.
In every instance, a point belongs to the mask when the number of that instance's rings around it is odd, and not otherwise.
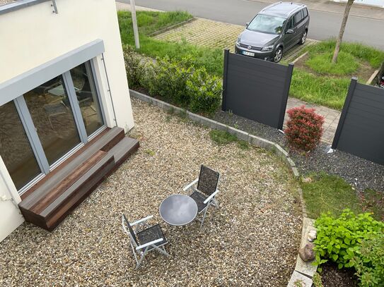
[[[132,99],[141,147],[52,233],[23,224],[0,243],[1,286],[286,286],[301,237],[296,188],[263,149],[219,146],[209,130]],[[169,228],[161,201],[181,193],[199,165],[221,172],[219,209],[204,228]],[[129,221],[149,214],[171,257],[151,252],[134,271]]]

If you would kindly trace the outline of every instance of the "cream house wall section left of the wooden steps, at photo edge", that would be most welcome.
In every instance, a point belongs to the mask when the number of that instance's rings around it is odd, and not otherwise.
[[[24,221],[18,202],[20,196],[0,157],[0,242]]]

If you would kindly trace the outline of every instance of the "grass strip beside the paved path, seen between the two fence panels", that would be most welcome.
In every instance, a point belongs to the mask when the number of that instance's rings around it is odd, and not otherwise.
[[[349,78],[318,77],[294,69],[289,94],[305,102],[342,109],[350,82]]]

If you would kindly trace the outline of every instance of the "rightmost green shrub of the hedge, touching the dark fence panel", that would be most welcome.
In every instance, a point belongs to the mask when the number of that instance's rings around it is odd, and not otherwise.
[[[219,78],[209,75],[205,68],[199,68],[186,82],[190,98],[190,110],[214,113],[221,102],[222,85]]]

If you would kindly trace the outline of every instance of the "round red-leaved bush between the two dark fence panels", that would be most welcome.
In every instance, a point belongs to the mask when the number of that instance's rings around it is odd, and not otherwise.
[[[284,133],[291,148],[308,152],[319,144],[324,117],[315,114],[315,109],[300,106],[287,111],[289,120]]]

